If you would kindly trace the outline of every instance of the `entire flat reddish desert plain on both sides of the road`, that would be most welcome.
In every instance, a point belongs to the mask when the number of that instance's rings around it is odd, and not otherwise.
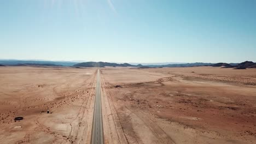
[[[1,143],[90,143],[97,69],[105,143],[256,143],[256,69],[219,67],[2,67]]]

